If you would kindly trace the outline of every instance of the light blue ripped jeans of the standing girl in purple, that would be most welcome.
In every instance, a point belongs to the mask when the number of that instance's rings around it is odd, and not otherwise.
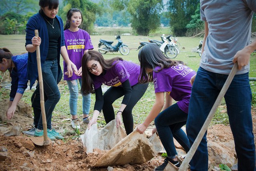
[[[82,78],[77,79],[80,86],[82,86]],[[78,81],[77,80],[67,80],[70,98],[69,98],[69,107],[71,115],[77,114],[77,100],[78,100]],[[91,105],[91,94],[83,95],[83,114],[89,114],[90,105]]]

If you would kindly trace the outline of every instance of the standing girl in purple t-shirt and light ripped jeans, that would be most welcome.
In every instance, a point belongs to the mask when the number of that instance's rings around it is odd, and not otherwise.
[[[93,49],[90,35],[85,30],[78,28],[83,21],[82,13],[77,8],[71,8],[67,13],[67,21],[64,27],[65,46],[67,48],[69,59],[76,65],[78,74],[73,74],[71,77],[64,75],[64,80],[68,83],[70,93],[69,106],[70,114],[72,115],[72,128],[80,129],[79,120],[77,117],[77,100],[78,100],[78,82],[82,84],[82,57],[88,50]],[[63,61],[64,73],[67,73],[67,64]],[[88,115],[91,105],[91,94],[83,95],[82,111],[83,123],[88,124]]]

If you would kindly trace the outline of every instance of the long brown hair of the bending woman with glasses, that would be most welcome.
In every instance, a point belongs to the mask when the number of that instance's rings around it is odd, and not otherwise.
[[[123,60],[120,57],[112,58],[109,60],[105,60],[100,54],[100,52],[97,52],[95,50],[89,50],[86,52],[82,58],[82,88],[81,88],[81,93],[83,95],[87,95],[89,93],[94,93],[94,87],[93,87],[93,77],[96,77],[94,74],[90,73],[87,69],[87,63],[90,60],[95,60],[100,63],[102,66],[103,72],[109,70],[113,66],[115,66],[117,63],[114,65],[113,62]]]

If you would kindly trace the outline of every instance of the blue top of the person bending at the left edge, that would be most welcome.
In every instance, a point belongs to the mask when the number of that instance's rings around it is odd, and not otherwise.
[[[9,68],[12,78],[12,86],[10,92],[10,101],[13,101],[16,93],[23,94],[28,87],[27,79],[27,62],[28,53],[17,56],[12,56],[12,62],[15,68]]]

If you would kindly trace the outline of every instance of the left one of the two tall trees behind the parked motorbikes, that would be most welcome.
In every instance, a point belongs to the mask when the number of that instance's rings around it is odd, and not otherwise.
[[[131,15],[131,27],[138,34],[148,36],[160,27],[162,0],[112,0],[114,9],[127,10]]]

